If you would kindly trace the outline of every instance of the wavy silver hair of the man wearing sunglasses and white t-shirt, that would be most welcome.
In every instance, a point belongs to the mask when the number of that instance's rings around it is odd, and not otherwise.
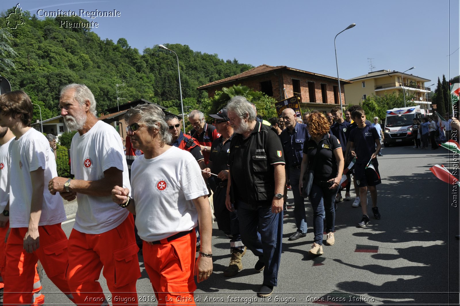
[[[139,122],[145,122],[149,129],[158,129],[162,144],[170,144],[173,141],[173,136],[168,132],[169,127],[165,121],[165,113],[160,107],[152,104],[141,104],[130,108],[124,116],[126,123],[134,116],[139,117]]]

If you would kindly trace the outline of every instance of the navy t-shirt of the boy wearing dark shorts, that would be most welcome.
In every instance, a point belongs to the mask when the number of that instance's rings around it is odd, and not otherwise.
[[[372,153],[375,153],[376,139],[379,139],[379,133],[372,125],[366,124],[362,129],[357,128],[351,131],[349,141],[354,143],[357,164],[369,162]],[[372,163],[377,164],[377,158],[373,159]]]

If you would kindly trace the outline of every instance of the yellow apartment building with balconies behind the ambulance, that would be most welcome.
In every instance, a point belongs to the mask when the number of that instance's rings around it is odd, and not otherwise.
[[[427,100],[427,94],[431,89],[425,87],[425,82],[431,82],[431,80],[426,78],[394,70],[379,70],[351,78],[348,81],[353,83],[344,85],[347,105],[359,104],[372,94],[382,96],[385,93],[399,93],[404,88],[406,95],[415,95],[414,102],[417,105],[420,104],[420,108],[431,109],[431,101]]]

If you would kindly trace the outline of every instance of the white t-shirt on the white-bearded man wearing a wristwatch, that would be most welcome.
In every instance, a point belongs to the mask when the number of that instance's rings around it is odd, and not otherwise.
[[[98,121],[85,134],[74,135],[70,146],[70,171],[75,179],[98,181],[104,178],[104,171],[111,167],[123,171],[123,187],[131,189],[123,144],[113,126]],[[114,203],[110,195],[77,193],[77,202],[74,229],[85,234],[101,234],[112,230],[129,213],[126,208]]]

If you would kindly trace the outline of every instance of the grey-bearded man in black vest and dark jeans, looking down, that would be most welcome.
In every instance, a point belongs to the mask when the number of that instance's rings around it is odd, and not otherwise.
[[[257,293],[269,296],[278,282],[283,233],[283,190],[286,183],[281,141],[270,126],[256,121],[242,96],[227,105],[235,130],[230,143],[230,178],[225,205],[238,212],[241,240],[259,257],[255,270],[264,271]]]

